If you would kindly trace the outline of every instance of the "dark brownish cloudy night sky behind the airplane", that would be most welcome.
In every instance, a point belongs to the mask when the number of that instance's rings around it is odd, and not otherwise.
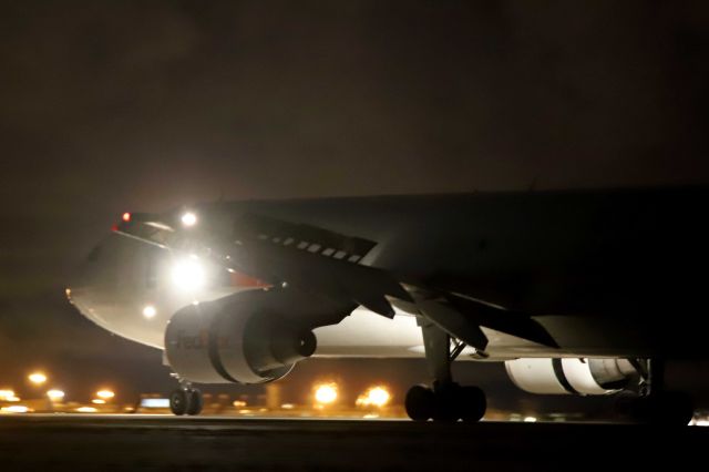
[[[126,209],[709,183],[707,2],[1,3],[0,387],[169,388],[63,297]]]

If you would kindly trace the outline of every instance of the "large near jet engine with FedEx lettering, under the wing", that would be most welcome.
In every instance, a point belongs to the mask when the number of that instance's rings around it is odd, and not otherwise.
[[[165,356],[181,377],[201,383],[263,383],[315,352],[309,328],[286,320],[264,293],[243,293],[177,311]]]

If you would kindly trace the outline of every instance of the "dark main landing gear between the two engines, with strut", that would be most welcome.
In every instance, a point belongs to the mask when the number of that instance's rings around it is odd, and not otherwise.
[[[465,347],[453,341],[438,326],[421,320],[425,359],[433,377],[432,388],[413,386],[409,389],[405,408],[414,421],[480,421],[485,414],[485,393],[477,387],[462,387],[453,381],[451,362]]]

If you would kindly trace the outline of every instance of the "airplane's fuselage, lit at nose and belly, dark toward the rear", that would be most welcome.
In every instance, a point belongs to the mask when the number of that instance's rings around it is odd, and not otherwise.
[[[197,226],[210,219],[229,228],[235,215],[249,212],[377,242],[361,264],[531,314],[561,346],[484,329],[490,359],[698,357],[700,330],[687,324],[700,328],[707,317],[687,316],[703,306],[703,279],[692,271],[709,261],[709,235],[696,219],[706,194],[392,196],[216,203],[193,211]],[[208,264],[204,280],[187,287],[175,275],[181,264],[184,256],[112,235],[89,256],[71,299],[99,326],[163,348],[165,327],[181,308],[254,289]],[[316,356],[423,355],[415,317],[401,311],[390,320],[358,308],[315,334]]]

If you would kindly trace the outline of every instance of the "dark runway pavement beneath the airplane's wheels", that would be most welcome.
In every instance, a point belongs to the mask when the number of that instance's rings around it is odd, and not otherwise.
[[[0,470],[706,469],[709,428],[7,415]],[[598,469],[597,469],[598,470]]]

